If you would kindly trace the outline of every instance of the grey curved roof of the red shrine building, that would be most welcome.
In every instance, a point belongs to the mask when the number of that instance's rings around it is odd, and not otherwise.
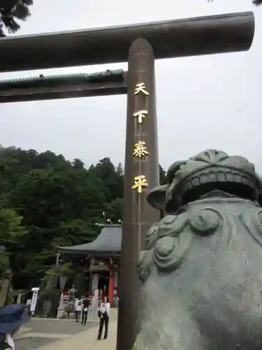
[[[59,246],[57,251],[67,255],[119,256],[122,244],[122,225],[105,225],[99,237],[91,243]]]

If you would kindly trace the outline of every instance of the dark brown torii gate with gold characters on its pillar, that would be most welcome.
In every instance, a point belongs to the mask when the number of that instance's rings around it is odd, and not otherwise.
[[[138,253],[148,228],[159,220],[159,212],[146,202],[147,191],[159,184],[154,59],[245,51],[253,36],[254,15],[247,12],[0,39],[1,72],[128,61],[122,87],[107,85],[112,94],[127,91],[118,350],[131,350],[136,337]],[[103,83],[94,85],[103,90]],[[38,99],[36,90],[23,100]],[[42,91],[41,99],[45,94],[57,98],[53,90]],[[74,96],[73,91],[66,95]]]

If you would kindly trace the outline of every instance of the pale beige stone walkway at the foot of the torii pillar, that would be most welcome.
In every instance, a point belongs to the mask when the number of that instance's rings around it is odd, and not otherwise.
[[[99,323],[97,327],[89,328],[76,335],[59,339],[47,346],[38,347],[37,350],[72,350],[72,349],[96,349],[96,350],[115,350],[117,343],[117,322],[109,322],[108,339],[96,340]]]

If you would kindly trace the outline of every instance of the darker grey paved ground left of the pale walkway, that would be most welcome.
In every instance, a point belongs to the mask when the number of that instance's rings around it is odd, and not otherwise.
[[[20,328],[15,337],[16,350],[35,350],[42,346],[51,349],[52,344],[60,344],[64,341],[71,342],[79,335],[85,334],[87,330],[90,338],[96,339],[99,323],[88,321],[87,325],[68,320],[48,320],[45,318],[32,318]],[[58,343],[57,343],[58,342]]]

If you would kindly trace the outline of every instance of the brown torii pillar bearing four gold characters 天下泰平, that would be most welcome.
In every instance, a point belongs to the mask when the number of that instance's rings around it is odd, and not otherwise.
[[[159,185],[154,52],[148,41],[133,41],[128,64],[118,350],[131,349],[136,337],[138,254],[147,230],[160,217],[146,201],[147,190]]]

